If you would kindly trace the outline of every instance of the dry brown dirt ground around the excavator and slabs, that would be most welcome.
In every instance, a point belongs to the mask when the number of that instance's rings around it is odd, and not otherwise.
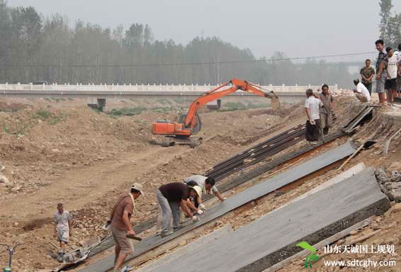
[[[339,118],[356,111],[349,103],[349,98],[339,102],[342,114]],[[120,101],[113,106],[127,104],[137,106],[132,101]],[[51,218],[57,203],[64,203],[74,215],[69,249],[77,248],[82,239],[106,235],[101,224],[115,199],[133,181],[144,183],[149,196],[140,199],[139,212],[133,220],[146,220],[154,215],[156,203],[152,192],[157,186],[181,181],[190,174],[202,174],[222,159],[251,147],[259,138],[264,140],[305,120],[302,107],[286,108],[274,114],[263,109],[203,113],[200,133],[205,139],[203,145],[196,149],[163,148],[149,143],[152,139],[149,127],[153,120],[174,118],[174,111],[148,110],[135,116],[115,117],[93,111],[79,101],[43,99],[2,101],[0,108],[3,108],[0,112],[0,165],[5,167],[0,174],[9,179],[7,186],[0,185],[0,241],[24,242],[14,256],[16,271],[41,271],[57,266],[57,262],[47,256],[48,251],[55,250]],[[271,132],[269,128],[274,125],[277,130]],[[371,131],[361,130],[355,137],[363,138],[368,134]],[[336,140],[319,152],[344,141]],[[380,147],[366,151],[368,154],[363,151],[346,168],[361,161],[376,167],[390,166],[401,159],[400,152],[394,152],[400,150],[399,145],[399,141],[393,142],[392,152],[387,157],[380,154]],[[335,174],[338,173],[329,171],[283,195],[266,196],[245,212],[223,217],[215,228],[227,222],[235,228],[246,225]],[[229,193],[242,191],[253,183]],[[383,232],[380,237],[376,235],[371,239],[383,244],[399,236],[397,224],[393,222],[400,220],[400,214],[400,209],[393,209],[379,219],[373,227],[382,227]],[[354,235],[368,231],[367,228]],[[1,252],[0,263],[5,263],[5,251]],[[295,261],[283,271],[300,271],[300,262]],[[320,262],[316,267],[323,269]]]

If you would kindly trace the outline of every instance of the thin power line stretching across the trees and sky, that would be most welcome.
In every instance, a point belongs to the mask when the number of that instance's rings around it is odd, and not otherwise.
[[[259,60],[232,60],[225,62],[182,62],[182,63],[152,63],[152,64],[0,64],[0,67],[48,67],[48,68],[98,68],[98,67],[166,67],[166,66],[200,66],[200,65],[212,65],[212,64],[237,64],[237,63],[255,63],[255,62],[282,62],[286,60],[310,60],[310,59],[322,59],[331,57],[350,57],[358,55],[371,55],[375,52],[358,52],[349,54],[338,54],[338,55],[320,55],[312,57],[283,57],[283,58],[269,58]],[[341,63],[341,62],[340,62]]]

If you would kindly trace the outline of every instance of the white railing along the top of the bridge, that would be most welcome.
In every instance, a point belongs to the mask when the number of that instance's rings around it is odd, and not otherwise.
[[[205,92],[214,89],[213,85],[186,85],[186,84],[0,84],[0,91],[183,91]],[[320,85],[266,85],[261,86],[269,91],[306,91],[320,89]],[[337,91],[337,84],[329,86],[332,91]]]

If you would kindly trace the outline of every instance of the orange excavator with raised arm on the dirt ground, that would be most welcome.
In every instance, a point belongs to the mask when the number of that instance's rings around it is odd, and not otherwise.
[[[228,87],[228,88],[225,88]],[[190,145],[191,147],[196,147],[200,145],[202,138],[191,137],[196,135],[202,127],[200,118],[198,115],[198,110],[205,106],[205,104],[215,99],[227,96],[235,91],[247,91],[251,94],[256,94],[257,96],[263,96],[271,99],[271,106],[276,109],[280,106],[278,97],[273,91],[266,93],[261,91],[261,86],[252,84],[247,81],[240,79],[232,79],[231,81],[218,86],[217,88],[208,91],[196,98],[195,101],[191,103],[188,108],[188,113],[183,113],[179,116],[178,122],[173,122],[169,120],[157,120],[156,123],[152,124],[152,133],[154,135],[164,135],[166,139],[162,142],[162,146],[169,147],[175,145],[179,142],[183,145]]]

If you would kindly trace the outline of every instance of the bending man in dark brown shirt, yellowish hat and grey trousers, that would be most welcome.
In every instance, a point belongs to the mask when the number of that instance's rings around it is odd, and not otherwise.
[[[161,237],[166,237],[174,232],[174,229],[180,227],[181,210],[190,217],[193,222],[199,218],[191,212],[191,210],[198,212],[199,215],[203,213],[198,210],[191,203],[186,200],[189,197],[196,197],[202,194],[202,189],[199,186],[188,186],[186,183],[173,182],[160,186],[156,191],[157,202],[159,203],[159,212],[162,217],[162,231]],[[171,229],[171,217],[173,219],[173,229]]]

